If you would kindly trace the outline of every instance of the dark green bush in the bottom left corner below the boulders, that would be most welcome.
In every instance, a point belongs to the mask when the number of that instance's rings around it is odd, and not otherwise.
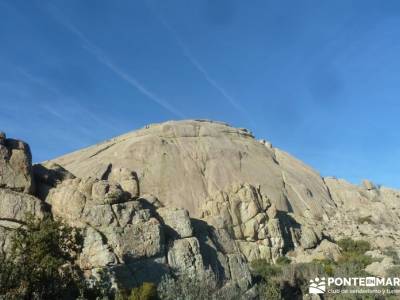
[[[79,233],[50,217],[28,215],[0,257],[0,295],[6,299],[63,299],[84,296],[81,270],[74,264]]]

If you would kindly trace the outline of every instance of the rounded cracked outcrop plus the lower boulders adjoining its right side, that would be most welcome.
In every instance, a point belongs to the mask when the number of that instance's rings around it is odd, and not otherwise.
[[[275,262],[295,249],[314,249],[325,238],[321,226],[277,210],[259,187],[247,183],[234,184],[210,197],[203,218],[226,232],[247,262]]]

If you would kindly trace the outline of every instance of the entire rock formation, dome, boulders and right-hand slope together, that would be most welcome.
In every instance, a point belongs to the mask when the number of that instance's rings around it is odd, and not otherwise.
[[[2,250],[26,213],[51,213],[81,229],[85,272],[126,287],[211,270],[245,293],[253,260],[338,260],[342,237],[400,241],[400,192],[322,178],[224,123],[150,125],[33,172],[26,144],[0,134],[0,154]]]

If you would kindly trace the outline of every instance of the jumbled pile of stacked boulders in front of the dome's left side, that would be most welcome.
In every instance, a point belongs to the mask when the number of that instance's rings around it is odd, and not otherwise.
[[[243,292],[250,288],[245,258],[230,245],[229,253],[219,249],[218,235],[212,237],[211,227],[196,223],[187,210],[163,207],[155,196],[140,195],[134,172],[108,165],[98,178],[76,178],[45,163],[35,165],[34,173],[53,217],[81,228],[79,265],[87,276],[106,270],[114,282],[130,288],[159,282],[171,271],[201,276],[211,270]]]

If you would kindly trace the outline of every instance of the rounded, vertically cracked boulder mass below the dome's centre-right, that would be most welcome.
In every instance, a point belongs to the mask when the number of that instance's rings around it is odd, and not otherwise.
[[[221,238],[220,244],[235,240],[249,262],[259,258],[274,261],[282,255],[285,243],[291,242],[283,236],[282,228],[287,231],[290,228],[278,219],[276,206],[271,205],[261,189],[247,183],[234,184],[209,197],[202,216],[228,234]]]

